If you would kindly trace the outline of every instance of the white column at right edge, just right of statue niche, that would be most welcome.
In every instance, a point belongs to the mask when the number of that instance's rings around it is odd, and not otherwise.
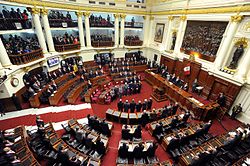
[[[242,78],[243,80],[246,79],[247,74],[250,70],[250,48],[248,46],[246,53],[244,54],[245,56],[241,60],[241,63],[238,65],[238,73],[237,76],[239,78]]]

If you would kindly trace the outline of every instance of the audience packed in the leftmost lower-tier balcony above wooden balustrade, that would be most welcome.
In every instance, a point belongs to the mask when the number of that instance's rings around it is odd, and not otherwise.
[[[35,35],[33,35],[33,37],[9,35],[8,39],[3,36],[1,36],[1,39],[8,55],[25,54],[40,49],[38,39]]]

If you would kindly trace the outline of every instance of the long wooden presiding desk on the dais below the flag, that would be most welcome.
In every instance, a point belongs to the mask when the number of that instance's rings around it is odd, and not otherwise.
[[[152,70],[145,71],[145,79],[151,85],[164,87],[166,90],[165,94],[171,100],[177,101],[181,107],[192,111],[195,118],[198,120],[207,119],[206,115],[208,112],[218,107],[215,102],[210,102],[208,104],[200,103],[192,94],[167,81],[165,78],[161,77],[161,75],[153,73]]]

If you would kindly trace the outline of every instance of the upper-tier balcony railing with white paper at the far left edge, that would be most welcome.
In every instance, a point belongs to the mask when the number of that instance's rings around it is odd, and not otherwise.
[[[18,18],[0,18],[0,30],[21,30],[31,29],[31,20]]]

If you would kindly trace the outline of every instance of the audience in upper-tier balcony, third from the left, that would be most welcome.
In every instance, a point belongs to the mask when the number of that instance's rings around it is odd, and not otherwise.
[[[89,23],[91,27],[113,27],[114,26],[109,14],[107,15],[106,19],[103,18],[101,15],[94,16],[93,14],[91,14],[89,17]]]

